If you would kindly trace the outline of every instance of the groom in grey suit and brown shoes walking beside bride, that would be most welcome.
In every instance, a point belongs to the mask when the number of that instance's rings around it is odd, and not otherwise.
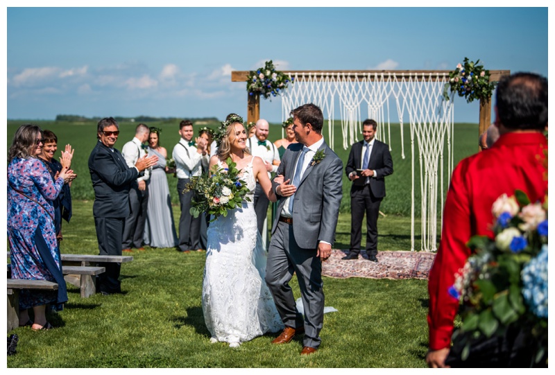
[[[305,104],[291,111],[299,143],[285,151],[273,182],[278,195],[279,220],[272,228],[268,249],[266,284],[285,325],[273,344],[285,344],[305,332],[301,355],[318,349],[324,319],[322,261],[332,254],[341,203],[341,159],[322,137],[324,117],[320,108]],[[290,183],[289,183],[290,182]],[[305,310],[297,311],[289,280],[296,272]]]

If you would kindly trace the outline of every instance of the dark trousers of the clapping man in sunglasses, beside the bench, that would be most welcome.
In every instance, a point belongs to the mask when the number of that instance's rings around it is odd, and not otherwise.
[[[125,218],[94,218],[100,255],[121,255],[121,234],[125,220]],[[98,276],[97,290],[105,293],[121,293],[119,282],[121,263],[99,263],[99,265],[106,270]]]

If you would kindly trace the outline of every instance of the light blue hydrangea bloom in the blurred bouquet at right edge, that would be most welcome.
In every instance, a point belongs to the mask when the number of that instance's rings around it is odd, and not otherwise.
[[[522,296],[538,317],[547,317],[547,245],[522,269]]]

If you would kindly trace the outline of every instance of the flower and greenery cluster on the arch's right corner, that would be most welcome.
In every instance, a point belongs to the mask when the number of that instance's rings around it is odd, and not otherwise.
[[[449,73],[449,82],[443,87],[443,98],[449,100],[447,91],[456,92],[459,96],[466,98],[470,103],[477,100],[488,100],[493,94],[497,82],[490,82],[490,71],[484,69],[484,65],[469,61],[464,58],[464,64],[457,64],[456,69]]]

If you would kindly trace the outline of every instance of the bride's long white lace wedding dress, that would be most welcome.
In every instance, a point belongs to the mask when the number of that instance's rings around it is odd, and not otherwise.
[[[250,191],[250,202],[210,223],[203,279],[203,313],[210,340],[229,342],[230,347],[284,328],[264,281],[268,255],[253,206],[252,160],[242,180]]]

